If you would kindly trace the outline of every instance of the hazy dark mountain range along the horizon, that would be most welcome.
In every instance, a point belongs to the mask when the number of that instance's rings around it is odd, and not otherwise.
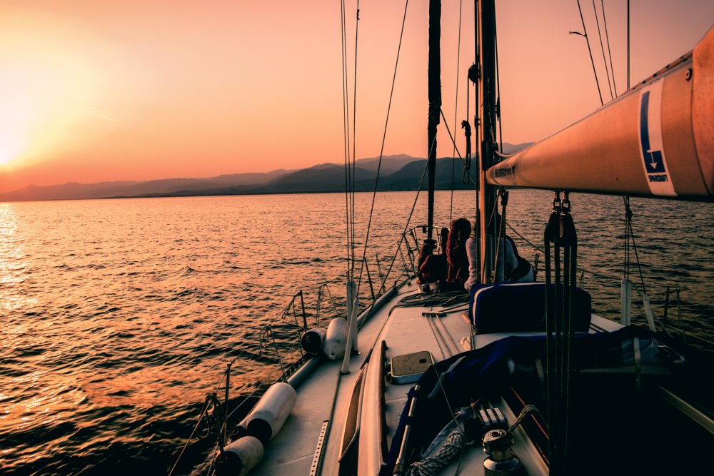
[[[530,144],[513,146],[504,143],[503,150],[513,153]],[[355,162],[355,191],[373,191],[379,158],[361,158]],[[384,156],[379,166],[379,191],[416,190],[426,158],[404,154]],[[453,180],[452,180],[453,169]],[[471,176],[476,171],[471,163]],[[437,190],[473,188],[463,183],[461,161],[451,157],[437,159],[435,187]],[[423,188],[426,188],[426,176]],[[320,193],[345,191],[344,165],[322,163],[299,170],[278,169],[265,173],[232,173],[209,178],[167,178],[151,181],[114,181],[99,183],[63,183],[53,186],[26,186],[16,191],[0,193],[0,201],[81,200],[89,198],[136,198],[159,196],[254,195],[266,193]]]

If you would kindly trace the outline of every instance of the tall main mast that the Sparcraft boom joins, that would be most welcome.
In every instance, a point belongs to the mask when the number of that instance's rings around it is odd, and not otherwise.
[[[493,249],[496,236],[496,221],[491,218],[491,211],[496,204],[496,187],[488,185],[486,170],[495,163],[494,145],[496,143],[496,7],[493,0],[476,0],[476,10],[481,26],[479,50],[479,69],[481,71],[479,91],[481,93],[481,153],[478,160],[479,201],[479,248],[481,250],[481,283],[491,280],[493,271]],[[478,105],[477,105],[478,107]]]

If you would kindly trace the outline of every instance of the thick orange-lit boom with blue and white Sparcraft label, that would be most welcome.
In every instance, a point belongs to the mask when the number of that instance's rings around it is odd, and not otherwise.
[[[714,29],[693,52],[487,176],[492,185],[714,201]]]

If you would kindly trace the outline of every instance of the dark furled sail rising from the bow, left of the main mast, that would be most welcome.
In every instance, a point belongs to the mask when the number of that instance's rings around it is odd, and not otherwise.
[[[429,117],[428,136],[428,232],[434,228],[434,176],[436,176],[436,126],[441,112],[441,0],[429,0]]]

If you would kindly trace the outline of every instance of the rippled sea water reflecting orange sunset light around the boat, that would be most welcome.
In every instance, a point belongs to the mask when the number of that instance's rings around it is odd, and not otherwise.
[[[418,253],[411,229],[426,224],[426,193],[416,206],[415,195],[377,196],[366,254],[368,193],[355,197],[353,249],[342,194],[0,204],[0,472],[166,473],[206,394],[223,391],[228,362],[231,397],[249,394],[299,355],[301,304],[313,325],[321,285],[321,318],[343,313],[348,253],[366,255],[355,273],[363,301],[367,275],[378,291],[388,269],[386,285],[411,268],[414,256],[406,248],[395,255],[394,246],[407,230]],[[622,198],[570,199],[585,270],[578,280],[595,311],[616,319]],[[508,222],[539,248],[551,202],[550,193],[511,192]],[[473,192],[437,192],[435,223],[473,219],[475,203]],[[669,286],[675,328],[714,340],[714,206],[633,199],[632,208],[655,313],[663,315]],[[531,245],[508,233],[533,262]],[[641,288],[630,249],[630,279]],[[677,288],[685,288],[679,301]],[[637,305],[635,313],[643,323]],[[214,441],[199,427],[181,472]]]

